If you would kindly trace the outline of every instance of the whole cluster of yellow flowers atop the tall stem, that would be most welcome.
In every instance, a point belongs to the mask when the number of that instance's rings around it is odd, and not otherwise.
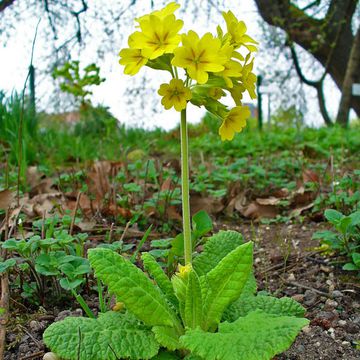
[[[204,106],[222,120],[221,139],[232,140],[250,116],[248,107],[242,105],[243,94],[256,98],[252,53],[257,51],[257,42],[231,11],[223,12],[225,33],[218,26],[216,36],[208,32],[200,37],[192,30],[180,34],[183,21],[174,15],[179,7],[172,2],[137,18],[138,31],[129,36],[129,47],[120,51],[119,62],[128,75],[137,74],[145,65],[169,71],[171,81],[158,91],[165,109],[182,111],[188,102]],[[180,69],[184,79],[179,77]],[[236,105],[231,110],[219,101],[226,93]]]

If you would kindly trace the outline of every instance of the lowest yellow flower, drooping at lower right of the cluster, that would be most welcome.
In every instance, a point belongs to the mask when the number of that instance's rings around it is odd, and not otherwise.
[[[219,128],[221,140],[232,140],[235,133],[241,132],[246,126],[246,119],[249,117],[250,110],[247,106],[236,106],[231,109]]]

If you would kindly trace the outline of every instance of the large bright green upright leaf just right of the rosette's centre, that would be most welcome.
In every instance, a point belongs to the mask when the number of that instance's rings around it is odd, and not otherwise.
[[[204,299],[204,329],[216,326],[225,309],[240,297],[252,269],[252,250],[251,242],[238,246],[200,278]]]

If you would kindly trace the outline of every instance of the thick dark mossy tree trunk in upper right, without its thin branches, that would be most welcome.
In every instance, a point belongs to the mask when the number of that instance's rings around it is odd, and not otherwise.
[[[292,42],[312,54],[341,89],[354,41],[351,19],[358,0],[331,0],[323,19],[307,15],[290,0],[255,2],[262,18],[283,29]],[[360,117],[360,103],[353,101],[351,106]]]

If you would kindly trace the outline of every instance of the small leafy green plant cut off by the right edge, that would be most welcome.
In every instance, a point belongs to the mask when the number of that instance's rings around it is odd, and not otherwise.
[[[346,257],[344,270],[360,271],[360,210],[345,216],[339,211],[328,209],[325,218],[335,231],[317,231],[313,239],[320,239],[325,251],[335,251]]]

